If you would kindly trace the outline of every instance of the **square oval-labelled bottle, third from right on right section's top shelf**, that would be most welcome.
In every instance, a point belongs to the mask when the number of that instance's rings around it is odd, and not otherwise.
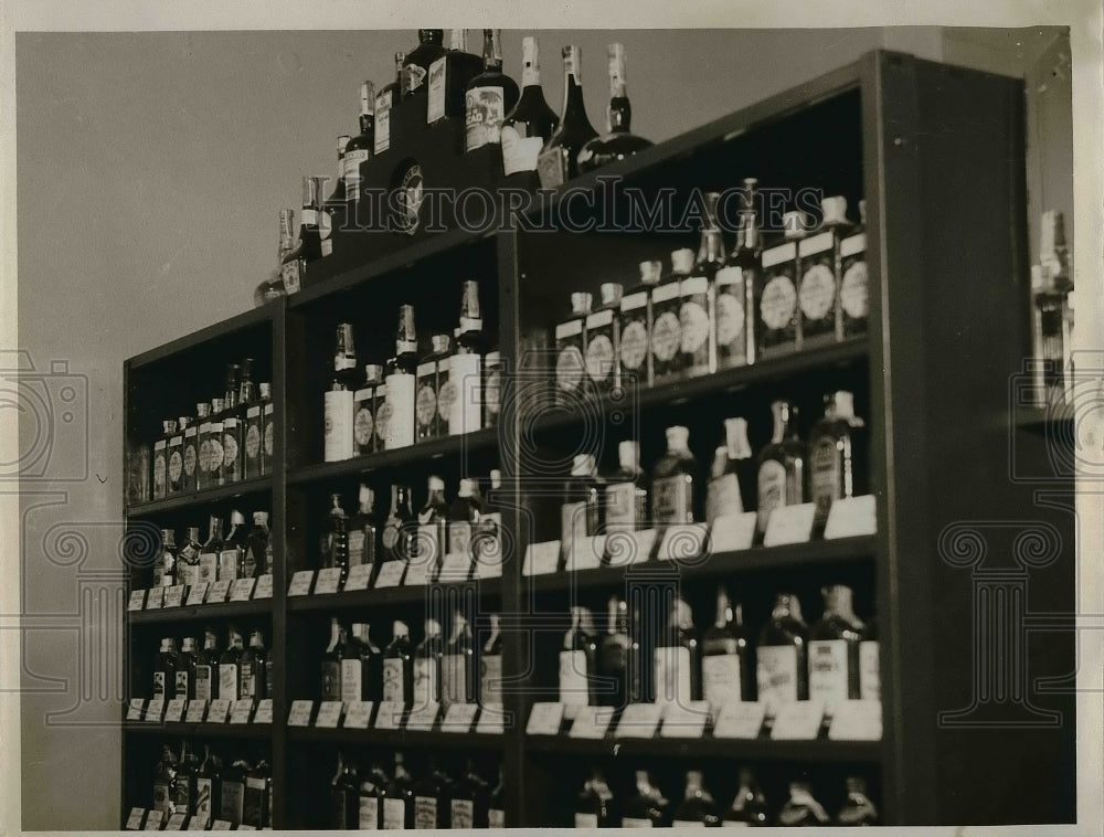
[[[783,241],[763,251],[763,292],[758,299],[756,359],[795,351],[797,346],[797,244],[804,236],[803,213],[783,214]]]

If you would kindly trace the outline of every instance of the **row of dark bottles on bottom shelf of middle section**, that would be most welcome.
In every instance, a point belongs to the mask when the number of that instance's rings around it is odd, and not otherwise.
[[[360,770],[355,759],[338,753],[328,825],[341,830],[502,828],[505,797],[501,770],[492,787],[471,759],[454,778],[434,759],[415,776],[403,754],[395,753],[389,775],[379,759]]]

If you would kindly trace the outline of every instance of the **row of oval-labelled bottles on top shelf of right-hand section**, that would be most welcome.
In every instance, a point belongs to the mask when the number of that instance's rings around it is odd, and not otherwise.
[[[640,263],[639,280],[571,295],[571,317],[554,329],[555,386],[562,398],[602,396],[755,363],[763,358],[858,337],[867,329],[866,234],[847,220],[847,200],[822,201],[820,226],[784,215],[779,241],[764,248],[756,181],[744,181],[735,247],[725,254],[716,208],[705,194],[697,257],[671,253],[665,274]],[[864,203],[859,203],[864,213]]]

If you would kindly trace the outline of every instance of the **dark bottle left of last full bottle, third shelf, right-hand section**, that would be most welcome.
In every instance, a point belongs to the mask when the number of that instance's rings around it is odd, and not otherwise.
[[[808,700],[808,628],[797,596],[779,593],[755,649],[758,700],[774,714],[779,703]]]

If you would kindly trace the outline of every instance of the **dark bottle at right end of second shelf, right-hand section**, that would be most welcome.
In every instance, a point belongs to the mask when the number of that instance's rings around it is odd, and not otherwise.
[[[854,415],[854,396],[846,390],[825,395],[825,414],[809,434],[809,499],[816,504],[814,531],[824,530],[836,500],[863,492],[866,468],[863,445],[858,444],[864,426]]]

